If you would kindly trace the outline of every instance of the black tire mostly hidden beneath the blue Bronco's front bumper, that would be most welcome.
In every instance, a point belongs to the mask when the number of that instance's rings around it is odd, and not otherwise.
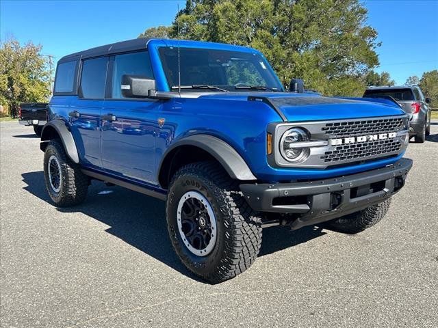
[[[346,234],[357,234],[365,229],[371,228],[385,217],[391,204],[391,198],[381,203],[369,206],[364,210],[355,212],[344,217],[339,217],[326,223],[326,227],[337,232]]]

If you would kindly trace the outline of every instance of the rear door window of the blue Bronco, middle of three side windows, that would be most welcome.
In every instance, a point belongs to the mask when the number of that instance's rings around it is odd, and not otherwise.
[[[83,98],[105,98],[108,57],[86,59],[82,64],[81,90]]]

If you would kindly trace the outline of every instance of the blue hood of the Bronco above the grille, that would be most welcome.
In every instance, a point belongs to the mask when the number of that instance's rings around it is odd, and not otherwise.
[[[248,98],[249,97],[249,98]],[[289,92],[223,92],[205,94],[199,98],[220,100],[260,100],[279,111],[287,121],[342,120],[403,115],[402,109],[387,100],[363,98],[330,98],[318,94]],[[358,100],[360,99],[360,100]]]

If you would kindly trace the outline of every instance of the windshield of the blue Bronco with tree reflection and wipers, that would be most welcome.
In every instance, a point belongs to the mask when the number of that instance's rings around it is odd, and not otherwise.
[[[169,87],[178,87],[178,48],[159,49]],[[283,91],[268,63],[257,53],[179,48],[181,86],[207,92]]]

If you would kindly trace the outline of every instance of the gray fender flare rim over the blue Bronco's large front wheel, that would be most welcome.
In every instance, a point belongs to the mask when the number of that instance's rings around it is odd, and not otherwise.
[[[175,143],[172,143],[172,145],[164,153],[162,160],[159,163],[157,172],[158,176],[162,170],[164,162],[168,157],[168,154],[170,154],[172,150],[175,150],[179,146],[196,146],[202,150],[205,150],[211,154],[211,156],[213,156],[214,159],[216,159],[220,165],[222,165],[222,167],[224,167],[229,176],[231,176],[233,179],[257,180],[244,159],[242,159],[242,156],[240,156],[240,154],[237,153],[233,147],[231,147],[222,139],[213,137],[212,135],[203,134],[190,135],[189,137],[185,137]]]

